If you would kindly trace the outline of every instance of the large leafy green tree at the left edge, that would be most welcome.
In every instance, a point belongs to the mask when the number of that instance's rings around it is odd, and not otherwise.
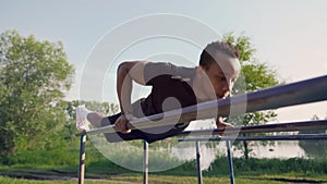
[[[0,36],[0,154],[45,145],[45,135],[62,125],[59,102],[72,83],[73,66],[61,42]],[[38,142],[43,140],[43,142]]]

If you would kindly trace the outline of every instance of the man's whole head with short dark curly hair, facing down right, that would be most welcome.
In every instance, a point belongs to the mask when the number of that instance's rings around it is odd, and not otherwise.
[[[206,99],[227,97],[237,79],[241,66],[240,52],[228,42],[211,42],[199,58],[198,75],[202,78],[201,94]]]

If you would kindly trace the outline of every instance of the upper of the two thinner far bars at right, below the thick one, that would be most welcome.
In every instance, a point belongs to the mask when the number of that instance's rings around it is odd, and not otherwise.
[[[303,121],[291,123],[262,124],[254,126],[235,126],[228,130],[196,130],[184,131],[179,136],[185,135],[220,135],[238,133],[269,133],[269,132],[294,132],[294,131],[327,130],[327,120]]]

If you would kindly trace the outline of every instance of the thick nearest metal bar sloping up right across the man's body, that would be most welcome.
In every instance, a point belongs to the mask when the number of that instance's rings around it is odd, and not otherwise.
[[[270,87],[245,95],[207,101],[183,109],[141,118],[128,123],[129,128],[159,127],[213,116],[243,114],[259,110],[277,109],[327,100],[327,75],[298,83]],[[218,109],[218,112],[217,112]],[[153,121],[157,121],[154,123]],[[90,130],[81,134],[113,133],[114,125]]]

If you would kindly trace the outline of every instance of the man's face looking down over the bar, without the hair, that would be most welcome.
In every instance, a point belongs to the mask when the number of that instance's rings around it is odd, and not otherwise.
[[[215,58],[218,62],[203,69],[207,78],[204,82],[203,89],[211,100],[229,96],[241,70],[238,59],[220,52]]]

